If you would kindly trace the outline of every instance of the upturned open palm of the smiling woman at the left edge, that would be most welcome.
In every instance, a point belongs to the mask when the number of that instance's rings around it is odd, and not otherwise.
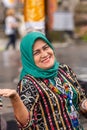
[[[16,95],[17,92],[14,89],[0,89],[0,96],[12,98]]]

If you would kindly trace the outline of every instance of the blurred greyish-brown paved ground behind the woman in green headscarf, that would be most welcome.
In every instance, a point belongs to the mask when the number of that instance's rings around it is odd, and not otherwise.
[[[15,51],[10,48],[5,51],[7,39],[0,40],[0,88],[14,88],[16,89],[17,82],[16,77],[19,74],[19,43],[17,41],[17,49]],[[87,43],[54,43],[55,53],[57,60],[66,63],[77,74],[79,80],[85,82],[85,88],[87,87]],[[13,130],[11,127],[12,121],[14,130],[17,130],[15,118],[13,115],[13,109],[9,99],[3,98],[3,109],[0,110],[0,114],[4,116],[8,122],[8,130]],[[81,116],[81,121],[85,130],[87,130],[87,119]],[[10,127],[9,127],[10,126]]]

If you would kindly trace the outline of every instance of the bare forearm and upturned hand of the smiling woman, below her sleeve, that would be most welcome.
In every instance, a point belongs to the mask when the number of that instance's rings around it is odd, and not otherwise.
[[[24,125],[29,117],[29,112],[23,104],[16,90],[13,89],[0,89],[0,96],[9,97],[13,106],[14,114],[17,120]],[[23,114],[24,113],[24,114]]]

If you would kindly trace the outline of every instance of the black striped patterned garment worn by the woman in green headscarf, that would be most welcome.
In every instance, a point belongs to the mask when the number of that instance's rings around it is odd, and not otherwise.
[[[60,65],[58,84],[64,88],[64,82],[73,90],[73,105],[79,112],[79,104],[85,98],[84,91],[77,82],[75,74],[67,65]],[[20,124],[20,130],[83,130],[81,125],[74,128],[70,120],[69,101],[55,93],[48,79],[34,79],[26,75],[18,85],[18,93],[26,105],[30,120]]]

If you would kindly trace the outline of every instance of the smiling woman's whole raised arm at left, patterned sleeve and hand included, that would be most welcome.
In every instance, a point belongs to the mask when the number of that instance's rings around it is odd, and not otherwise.
[[[21,129],[29,128],[34,123],[33,109],[39,101],[39,93],[31,80],[23,79],[17,91],[0,89],[0,96],[9,97],[17,123]]]

